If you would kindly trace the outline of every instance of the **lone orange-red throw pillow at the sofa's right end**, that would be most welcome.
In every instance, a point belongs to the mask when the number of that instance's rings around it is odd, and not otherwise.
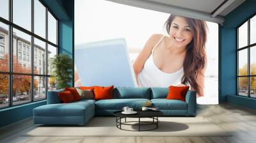
[[[189,86],[170,86],[169,93],[168,93],[166,99],[182,100],[183,102],[185,102],[188,89],[189,89]]]

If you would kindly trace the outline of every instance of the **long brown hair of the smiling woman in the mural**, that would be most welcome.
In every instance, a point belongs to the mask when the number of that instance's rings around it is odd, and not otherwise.
[[[166,26],[166,31],[170,33],[170,26],[176,15],[170,15],[168,20],[166,20],[164,26]],[[200,93],[200,88],[196,82],[196,78],[205,67],[206,55],[205,55],[205,42],[206,42],[206,30],[207,25],[203,20],[190,19],[184,17],[186,22],[188,22],[191,32],[193,33],[193,40],[186,47],[186,56],[184,58],[183,68],[184,75],[181,79],[182,84],[190,85],[195,89],[196,93]]]

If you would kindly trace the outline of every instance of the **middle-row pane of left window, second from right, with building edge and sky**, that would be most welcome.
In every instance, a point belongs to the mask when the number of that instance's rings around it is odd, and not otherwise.
[[[45,42],[34,38],[34,73],[46,75]]]

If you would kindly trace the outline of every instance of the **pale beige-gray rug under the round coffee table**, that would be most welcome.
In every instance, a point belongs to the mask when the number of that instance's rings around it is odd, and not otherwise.
[[[129,118],[127,121],[138,121]],[[144,119],[147,121],[149,119]],[[230,136],[228,131],[202,117],[159,117],[159,127],[145,132],[131,132],[116,128],[115,117],[93,117],[84,126],[36,126],[22,136],[80,137],[80,136]],[[136,124],[136,123],[135,123]],[[153,126],[143,126],[143,130]],[[127,130],[138,130],[138,126],[124,125]]]

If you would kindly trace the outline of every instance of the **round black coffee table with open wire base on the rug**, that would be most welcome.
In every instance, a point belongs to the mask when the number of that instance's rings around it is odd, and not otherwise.
[[[122,128],[122,124],[125,125],[131,125],[131,126],[138,126],[139,130],[127,130],[127,131],[150,131],[158,128],[158,123],[159,123],[159,116],[163,116],[163,112],[159,110],[138,110],[137,114],[122,114],[122,110],[114,112],[114,116],[116,116],[116,127],[119,128],[120,130],[126,130]],[[132,118],[138,118],[138,121],[126,121],[127,117],[132,117]],[[141,118],[151,118],[152,121],[141,121]],[[124,122],[122,122],[122,119],[125,119]],[[138,123],[138,124],[131,124],[131,123]],[[147,126],[147,125],[154,125],[153,128],[150,128],[148,130],[141,130],[141,126]]]

